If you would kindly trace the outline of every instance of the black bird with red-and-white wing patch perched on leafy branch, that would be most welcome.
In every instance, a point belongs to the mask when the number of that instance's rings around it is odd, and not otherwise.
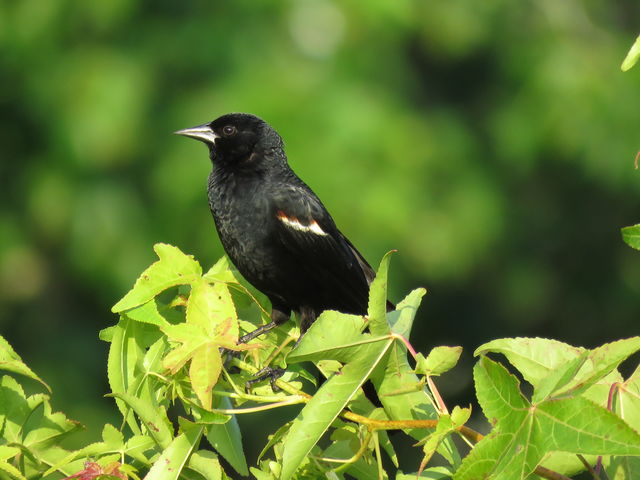
[[[209,206],[222,245],[271,301],[271,323],[241,342],[287,321],[291,311],[302,333],[323,310],[366,314],[374,271],[291,170],[271,126],[230,113],[176,133],[209,147]]]

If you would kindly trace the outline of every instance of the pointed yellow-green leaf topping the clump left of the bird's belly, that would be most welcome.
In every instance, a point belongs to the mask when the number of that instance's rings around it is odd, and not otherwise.
[[[133,289],[113,306],[112,312],[118,313],[137,307],[169,287],[186,285],[201,277],[200,264],[177,247],[157,243],[153,249],[159,260],[142,272]]]

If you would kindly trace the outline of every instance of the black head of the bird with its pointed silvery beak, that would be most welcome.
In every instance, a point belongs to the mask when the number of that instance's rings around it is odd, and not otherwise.
[[[175,133],[204,142],[211,160],[229,164],[243,163],[254,154],[282,148],[280,135],[264,120],[248,113],[228,113]]]

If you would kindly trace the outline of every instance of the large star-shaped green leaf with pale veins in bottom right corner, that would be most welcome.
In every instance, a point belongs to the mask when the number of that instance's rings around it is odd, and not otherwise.
[[[481,357],[474,368],[480,406],[494,424],[464,459],[455,480],[524,479],[545,454],[638,455],[640,435],[583,397],[530,404],[506,368]]]

